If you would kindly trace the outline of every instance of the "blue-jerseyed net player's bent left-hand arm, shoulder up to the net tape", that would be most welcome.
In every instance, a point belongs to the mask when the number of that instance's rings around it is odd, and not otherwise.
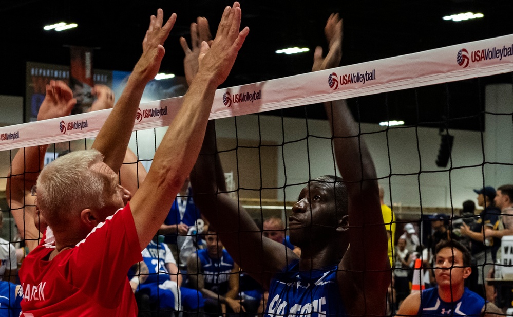
[[[298,257],[282,244],[263,237],[248,212],[226,193],[214,121],[208,122],[191,183],[196,206],[219,233],[226,250],[255,281],[269,288],[272,276]]]

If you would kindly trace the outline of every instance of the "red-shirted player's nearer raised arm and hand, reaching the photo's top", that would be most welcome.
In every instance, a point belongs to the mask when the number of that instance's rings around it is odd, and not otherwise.
[[[198,74],[155,153],[145,182],[130,202],[141,250],[164,222],[198,157],[215,90],[228,76],[249,28],[239,32],[241,10],[226,7],[211,47],[203,42]],[[176,149],[184,149],[177,152]]]

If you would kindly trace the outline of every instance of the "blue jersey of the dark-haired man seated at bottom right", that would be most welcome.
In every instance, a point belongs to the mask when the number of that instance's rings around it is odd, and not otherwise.
[[[438,295],[438,287],[422,291],[419,316],[481,316],[485,304],[483,297],[465,287],[459,301],[446,303]]]

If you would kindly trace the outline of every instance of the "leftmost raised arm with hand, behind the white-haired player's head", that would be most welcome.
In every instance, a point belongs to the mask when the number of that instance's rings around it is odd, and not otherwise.
[[[37,121],[68,116],[77,103],[71,89],[62,81],[50,81],[46,96],[37,113]],[[32,251],[40,238],[34,225],[35,197],[30,194],[43,169],[48,145],[25,147],[18,150],[7,176],[6,199],[25,245]]]

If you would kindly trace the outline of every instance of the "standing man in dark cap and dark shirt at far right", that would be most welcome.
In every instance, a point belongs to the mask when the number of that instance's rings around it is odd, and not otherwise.
[[[497,249],[500,247],[501,240],[498,238],[485,239],[485,228],[497,230],[499,227],[499,215],[501,211],[495,207],[493,199],[495,199],[496,191],[491,186],[482,189],[474,189],[478,194],[478,205],[483,207],[483,211],[471,227],[465,223],[462,224],[460,231],[464,236],[471,239],[470,251],[472,257],[476,260],[478,271],[478,288],[475,290],[488,301],[493,301],[493,287],[486,287],[484,290],[484,279],[488,276],[490,269],[493,267],[496,258]]]

